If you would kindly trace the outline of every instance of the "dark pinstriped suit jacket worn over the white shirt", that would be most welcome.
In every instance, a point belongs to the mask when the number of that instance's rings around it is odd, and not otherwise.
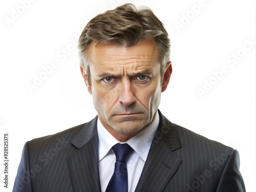
[[[136,191],[245,191],[236,150],[159,116]],[[100,191],[96,122],[28,141],[13,191]]]

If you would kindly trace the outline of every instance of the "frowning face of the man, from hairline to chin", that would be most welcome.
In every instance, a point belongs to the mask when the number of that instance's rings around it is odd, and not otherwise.
[[[153,120],[171,70],[166,70],[163,90],[153,39],[130,48],[92,42],[88,55],[91,84],[87,75],[84,80],[99,120],[118,140],[130,139]]]

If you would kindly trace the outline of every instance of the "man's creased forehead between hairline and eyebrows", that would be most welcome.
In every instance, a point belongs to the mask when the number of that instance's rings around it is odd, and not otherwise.
[[[95,61],[94,65],[92,65],[94,69],[96,69],[95,75],[100,75],[100,73],[104,72],[109,72],[113,75],[124,75],[125,73],[137,74],[137,71],[139,73],[141,68],[143,68],[143,70],[145,68],[151,68],[154,72],[153,68],[155,68],[155,64],[158,63],[160,65],[156,45],[154,45],[149,52],[145,52],[143,51],[144,49],[137,46],[135,46],[137,48],[134,47],[134,49],[132,49],[112,45],[101,45],[103,49],[97,49],[101,47],[98,46],[95,47],[94,43],[92,43],[91,49],[89,49],[89,55],[91,59]]]

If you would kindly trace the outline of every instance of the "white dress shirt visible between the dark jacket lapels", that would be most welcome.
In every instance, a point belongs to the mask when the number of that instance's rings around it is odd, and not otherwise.
[[[157,112],[153,121],[145,129],[126,141],[134,150],[131,156],[126,159],[129,192],[135,191],[138,184],[158,124],[159,115]],[[115,168],[116,156],[112,146],[121,142],[103,127],[99,119],[97,121],[97,130],[99,137],[99,179],[101,191],[103,192],[106,190]]]

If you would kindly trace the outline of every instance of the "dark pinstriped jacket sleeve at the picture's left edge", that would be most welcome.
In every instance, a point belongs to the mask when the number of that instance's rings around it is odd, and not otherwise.
[[[32,192],[31,170],[29,164],[29,141],[26,142],[22,152],[17,175],[14,181],[13,192]]]

